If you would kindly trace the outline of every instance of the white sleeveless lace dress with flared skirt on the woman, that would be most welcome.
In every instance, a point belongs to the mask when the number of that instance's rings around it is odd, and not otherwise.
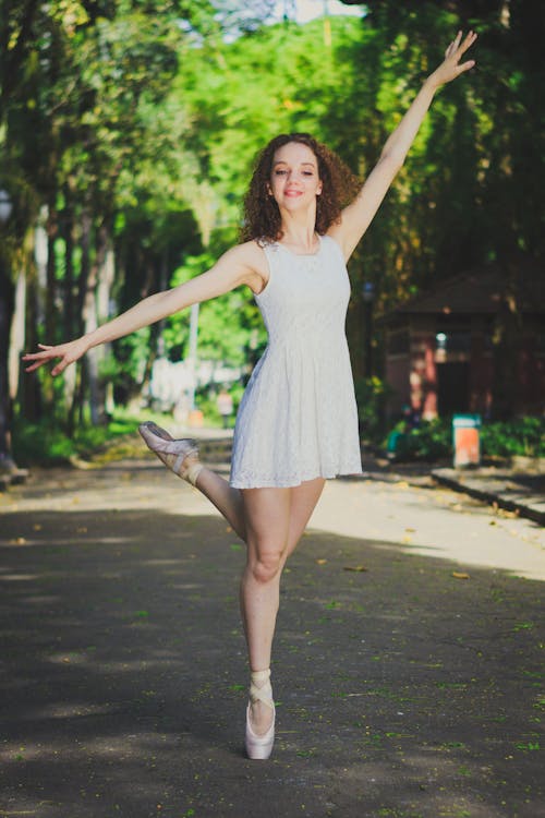
[[[242,398],[230,483],[293,486],[362,471],[358,410],[344,334],[350,282],[340,246],[314,255],[264,248],[269,280],[255,296],[267,348]]]

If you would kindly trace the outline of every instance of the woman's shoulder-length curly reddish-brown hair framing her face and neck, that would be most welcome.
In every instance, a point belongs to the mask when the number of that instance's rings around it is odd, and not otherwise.
[[[360,189],[359,179],[342,159],[311,134],[281,133],[275,136],[257,156],[250,188],[244,199],[244,221],[241,229],[243,241],[257,239],[267,242],[282,238],[280,210],[269,194],[268,185],[275,154],[290,142],[306,145],[318,160],[318,177],[323,182],[323,189],[316,200],[316,231],[320,236],[324,236],[331,225],[339,221],[342,208],[352,201]]]

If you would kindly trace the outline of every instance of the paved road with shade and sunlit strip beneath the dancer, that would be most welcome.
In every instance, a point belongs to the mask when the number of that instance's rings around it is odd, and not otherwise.
[[[284,577],[261,763],[243,551],[197,492],[125,461],[35,474],[0,515],[0,816],[545,816],[535,524],[329,483]]]

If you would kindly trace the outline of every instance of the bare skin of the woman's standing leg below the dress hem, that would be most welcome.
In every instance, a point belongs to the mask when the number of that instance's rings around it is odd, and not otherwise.
[[[317,478],[291,489],[242,491],[247,563],[241,582],[241,612],[252,671],[270,666],[280,575],[318,502],[324,482]],[[261,701],[252,705],[252,723],[257,733],[268,730],[270,719],[270,708]]]

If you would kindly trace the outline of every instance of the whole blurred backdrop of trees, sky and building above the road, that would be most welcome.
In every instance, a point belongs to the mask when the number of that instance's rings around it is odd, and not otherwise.
[[[266,344],[250,291],[55,381],[21,354],[211,266],[277,133],[311,132],[364,178],[458,28],[479,32],[477,65],[436,97],[350,263],[362,438],[402,430],[437,457],[473,412],[491,456],[544,454],[542,0],[0,7],[0,468],[87,456],[161,413],[232,424]]]

